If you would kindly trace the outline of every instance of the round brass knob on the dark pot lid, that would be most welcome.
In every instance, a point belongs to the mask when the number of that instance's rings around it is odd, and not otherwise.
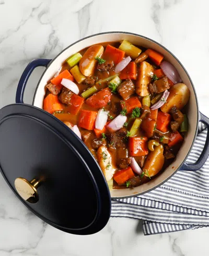
[[[39,194],[37,188],[40,185],[40,181],[32,179],[28,181],[22,177],[15,180],[15,188],[18,194],[28,203],[36,204],[39,201]]]

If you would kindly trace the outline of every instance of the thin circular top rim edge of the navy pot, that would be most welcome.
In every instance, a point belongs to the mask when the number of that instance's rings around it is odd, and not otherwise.
[[[36,98],[37,90],[38,90],[38,87],[39,87],[39,84],[40,84],[40,82],[41,82],[41,80],[42,80],[43,75],[44,75],[45,72],[48,70],[48,68],[49,68],[49,66],[52,64],[52,62],[54,62],[54,61],[56,60],[56,58],[59,57],[60,54],[62,54],[66,49],[68,49],[68,48],[74,46],[74,44],[76,44],[76,43],[78,43],[78,42],[80,42],[80,41],[83,41],[83,40],[85,40],[85,39],[87,39],[87,38],[96,37],[96,36],[99,36],[99,35],[107,35],[107,34],[126,34],[126,35],[133,35],[133,36],[141,37],[141,38],[147,39],[147,40],[149,40],[149,41],[152,41],[152,42],[158,44],[158,46],[160,46],[161,48],[163,48],[164,50],[166,50],[168,53],[170,53],[170,54],[172,55],[172,57],[175,58],[175,59],[178,61],[178,63],[181,65],[182,69],[183,69],[184,72],[187,74],[187,76],[188,76],[188,78],[189,78],[189,80],[190,80],[190,83],[191,83],[191,85],[192,85],[192,88],[193,88],[193,91],[194,91],[194,95],[195,95],[196,107],[197,107],[197,110],[198,110],[198,115],[197,115],[197,120],[196,120],[196,131],[195,131],[194,139],[193,139],[193,141],[192,141],[191,147],[190,147],[190,149],[189,149],[187,155],[185,155],[184,160],[183,160],[182,163],[179,165],[179,167],[177,168],[177,170],[176,170],[175,172],[173,172],[169,177],[167,177],[167,179],[165,179],[164,181],[162,181],[162,182],[159,183],[158,185],[156,185],[156,186],[150,188],[150,189],[147,190],[147,191],[144,191],[144,192],[141,192],[141,193],[137,193],[137,194],[134,194],[134,195],[130,195],[130,196],[111,197],[111,199],[130,198],[130,197],[136,197],[136,196],[138,196],[138,195],[143,195],[143,194],[148,193],[148,192],[150,192],[150,191],[152,191],[152,190],[155,190],[155,188],[157,188],[157,187],[161,186],[162,184],[164,184],[165,182],[167,182],[167,181],[181,168],[181,166],[183,165],[183,163],[187,160],[188,155],[190,154],[190,152],[191,152],[191,150],[192,150],[192,147],[193,147],[193,145],[194,145],[194,141],[195,141],[195,139],[196,139],[196,136],[197,136],[197,134],[198,134],[198,125],[199,125],[199,120],[200,120],[200,112],[199,112],[198,97],[197,97],[197,95],[196,95],[196,91],[195,91],[195,88],[194,88],[194,84],[193,84],[193,82],[192,82],[192,79],[191,79],[189,73],[188,73],[187,70],[184,68],[183,64],[179,61],[179,59],[178,59],[172,52],[170,52],[166,47],[162,46],[162,44],[156,42],[155,40],[150,39],[150,38],[145,37],[145,36],[142,36],[142,35],[139,35],[139,34],[132,33],[132,32],[126,32],[126,31],[108,31],[108,32],[101,32],[101,33],[97,33],[97,34],[94,34],[94,35],[91,35],[91,36],[84,37],[84,38],[79,39],[79,40],[77,40],[76,42],[70,44],[68,47],[66,47],[65,49],[63,49],[59,54],[56,55],[56,57],[54,57],[54,58],[51,60],[51,62],[49,63],[49,65],[47,66],[47,68],[44,70],[43,74],[41,75],[41,77],[40,77],[40,79],[39,79],[39,82],[38,82],[37,87],[36,87],[36,91],[34,92],[32,105],[34,105],[34,100],[35,100],[35,98]]]

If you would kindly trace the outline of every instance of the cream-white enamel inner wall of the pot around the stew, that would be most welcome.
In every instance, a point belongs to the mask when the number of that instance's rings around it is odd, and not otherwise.
[[[181,64],[167,50],[159,46],[157,43],[150,41],[149,39],[143,38],[141,36],[114,32],[111,34],[92,36],[75,43],[71,47],[68,47],[52,61],[47,70],[45,70],[43,76],[41,77],[41,80],[39,81],[36,96],[34,97],[33,102],[34,106],[42,108],[43,97],[45,94],[44,86],[47,84],[47,82],[51,79],[51,77],[56,73],[56,71],[60,68],[60,66],[69,56],[71,56],[75,52],[78,52],[86,47],[91,46],[92,44],[107,41],[122,41],[123,39],[126,39],[132,42],[133,44],[137,44],[139,46],[143,46],[146,48],[152,48],[162,53],[165,56],[165,58],[176,67],[181,76],[181,79],[183,80],[183,83],[185,83],[189,87],[191,92],[191,97],[188,105],[189,132],[185,137],[185,141],[177,155],[176,160],[173,161],[173,163],[170,166],[168,166],[168,168],[163,173],[161,173],[152,181],[141,186],[135,187],[133,189],[113,190],[111,191],[111,197],[133,196],[151,190],[152,188],[158,186],[159,184],[167,180],[179,168],[179,166],[182,164],[185,157],[187,156],[188,151],[190,150],[192,142],[195,137],[196,124],[198,121],[198,104],[196,102],[195,93],[190,82],[190,79],[187,73],[182,68]]]

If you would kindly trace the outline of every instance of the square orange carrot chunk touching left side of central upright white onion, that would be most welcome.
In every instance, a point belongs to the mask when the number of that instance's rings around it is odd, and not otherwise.
[[[96,111],[82,109],[79,115],[78,126],[87,130],[94,130],[96,117]]]

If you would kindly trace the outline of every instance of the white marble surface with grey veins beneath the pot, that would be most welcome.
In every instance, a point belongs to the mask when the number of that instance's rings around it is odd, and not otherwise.
[[[130,31],[164,44],[181,60],[209,116],[208,7],[207,0],[0,0],[0,107],[14,103],[20,75],[32,59],[53,58],[98,32]],[[31,75],[26,103],[43,70]],[[111,218],[96,235],[69,235],[31,214],[0,176],[1,256],[208,255],[207,228],[145,237],[141,225]]]

